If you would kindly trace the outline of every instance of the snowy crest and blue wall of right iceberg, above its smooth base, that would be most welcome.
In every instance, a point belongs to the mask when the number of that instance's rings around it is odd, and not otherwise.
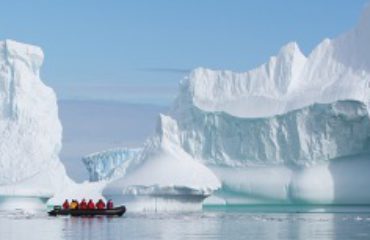
[[[224,166],[308,166],[369,151],[369,24],[370,7],[307,58],[290,43],[249,72],[195,69],[171,113],[182,148]]]

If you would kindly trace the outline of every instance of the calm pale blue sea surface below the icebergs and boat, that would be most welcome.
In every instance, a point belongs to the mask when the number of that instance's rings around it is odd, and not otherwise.
[[[122,218],[0,212],[0,239],[370,239],[370,207],[207,208]]]

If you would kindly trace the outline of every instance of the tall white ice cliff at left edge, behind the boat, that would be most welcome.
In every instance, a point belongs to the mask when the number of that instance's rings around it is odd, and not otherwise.
[[[40,79],[43,52],[0,42],[0,195],[51,196],[69,181],[59,161],[62,127]]]

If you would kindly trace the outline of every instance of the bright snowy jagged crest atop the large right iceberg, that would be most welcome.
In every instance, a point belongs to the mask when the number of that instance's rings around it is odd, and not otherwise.
[[[178,108],[192,105],[208,112],[265,117],[315,102],[369,101],[369,42],[367,7],[354,29],[324,40],[307,58],[297,43],[289,43],[268,63],[248,72],[195,69],[181,84]]]

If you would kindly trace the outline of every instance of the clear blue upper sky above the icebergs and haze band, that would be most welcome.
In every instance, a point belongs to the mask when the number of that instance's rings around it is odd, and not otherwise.
[[[191,69],[247,71],[290,41],[305,54],[368,0],[2,0],[0,39],[42,47],[61,100],[169,105]]]

